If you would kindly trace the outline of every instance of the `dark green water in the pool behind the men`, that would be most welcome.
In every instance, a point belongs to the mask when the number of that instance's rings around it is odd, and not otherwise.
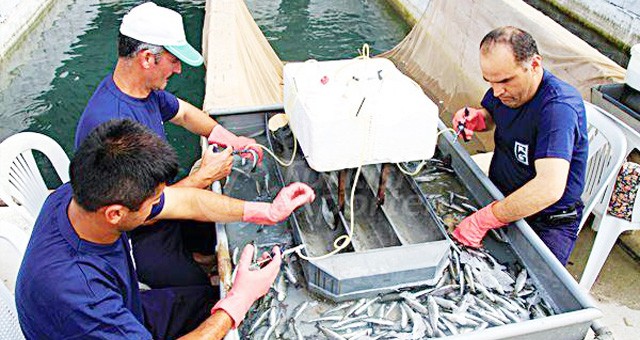
[[[71,155],[75,127],[95,87],[116,62],[122,16],[141,1],[58,0],[16,52],[0,64],[0,140],[20,131],[53,137]],[[187,39],[200,48],[204,0],[156,0],[183,15]],[[356,56],[395,46],[409,31],[385,0],[247,0],[283,60]],[[184,66],[167,89],[196,106],[204,99],[203,67]],[[181,175],[198,155],[198,139],[172,124]]]

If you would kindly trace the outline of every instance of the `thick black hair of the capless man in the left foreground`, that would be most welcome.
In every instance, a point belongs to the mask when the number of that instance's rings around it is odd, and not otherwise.
[[[73,197],[87,211],[122,204],[137,211],[178,172],[175,151],[143,125],[111,120],[82,142],[71,160]]]

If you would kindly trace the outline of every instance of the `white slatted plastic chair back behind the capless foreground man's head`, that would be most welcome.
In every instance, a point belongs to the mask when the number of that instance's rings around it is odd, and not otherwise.
[[[0,199],[33,225],[49,189],[31,150],[49,158],[62,183],[69,181],[69,158],[56,141],[35,132],[15,134],[0,144]]]

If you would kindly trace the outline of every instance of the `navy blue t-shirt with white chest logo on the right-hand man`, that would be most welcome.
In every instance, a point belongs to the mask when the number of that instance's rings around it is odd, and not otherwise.
[[[569,177],[562,198],[542,212],[566,209],[580,200],[588,157],[587,119],[580,93],[544,71],[534,97],[512,109],[489,89],[482,99],[496,123],[495,151],[489,178],[510,195],[536,176],[535,161],[562,158],[569,161]]]

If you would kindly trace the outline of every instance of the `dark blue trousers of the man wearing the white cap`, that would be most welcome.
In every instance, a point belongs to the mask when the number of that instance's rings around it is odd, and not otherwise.
[[[215,253],[215,225],[161,220],[130,232],[138,280],[151,288],[211,285],[192,253]]]

